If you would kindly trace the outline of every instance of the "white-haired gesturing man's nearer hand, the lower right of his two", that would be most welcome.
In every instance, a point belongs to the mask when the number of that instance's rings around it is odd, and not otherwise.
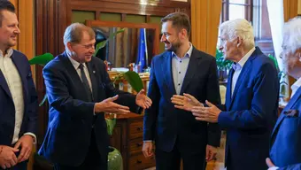
[[[206,100],[208,107],[195,106],[192,107],[192,114],[196,116],[196,120],[208,121],[216,123],[219,120],[220,109],[214,104]]]

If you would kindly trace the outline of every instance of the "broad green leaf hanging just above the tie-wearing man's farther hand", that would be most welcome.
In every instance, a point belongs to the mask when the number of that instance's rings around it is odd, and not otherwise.
[[[132,86],[132,88],[135,89],[136,92],[139,92],[143,89],[143,81],[141,80],[138,73],[128,71],[124,73],[124,78]]]

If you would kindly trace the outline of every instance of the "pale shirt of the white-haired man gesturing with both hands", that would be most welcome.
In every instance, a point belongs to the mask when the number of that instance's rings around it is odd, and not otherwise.
[[[238,63],[232,65],[235,73],[233,73],[233,77],[232,77],[231,97],[233,96],[233,92],[235,90],[235,85],[238,80],[239,74],[242,72],[244,64],[251,57],[251,54],[254,52],[254,50],[255,50],[255,47],[253,47],[251,50],[249,50],[249,52],[246,53],[240,61],[238,61]]]

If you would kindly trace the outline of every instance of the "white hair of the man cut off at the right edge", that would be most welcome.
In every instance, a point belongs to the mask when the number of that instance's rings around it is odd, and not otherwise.
[[[284,43],[285,42],[285,43]],[[283,26],[283,42],[290,52],[295,53],[301,48],[301,18],[289,19]]]

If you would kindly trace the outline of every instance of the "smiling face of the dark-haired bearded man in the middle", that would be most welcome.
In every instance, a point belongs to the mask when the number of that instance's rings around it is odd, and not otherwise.
[[[181,37],[179,31],[173,27],[172,21],[166,21],[162,24],[161,42],[164,42],[165,50],[174,51],[181,47]]]

